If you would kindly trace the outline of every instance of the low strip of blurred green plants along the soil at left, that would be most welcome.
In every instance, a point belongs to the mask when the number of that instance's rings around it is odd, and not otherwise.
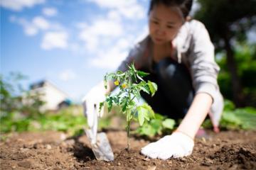
[[[63,108],[57,113],[46,112],[40,116],[31,117],[21,113],[11,113],[8,118],[1,121],[1,132],[24,132],[24,131],[46,131],[56,130],[65,132],[68,135],[81,135],[87,123],[82,114],[81,106],[70,106]],[[102,118],[99,122],[100,128],[107,128],[110,125],[108,118]]]

